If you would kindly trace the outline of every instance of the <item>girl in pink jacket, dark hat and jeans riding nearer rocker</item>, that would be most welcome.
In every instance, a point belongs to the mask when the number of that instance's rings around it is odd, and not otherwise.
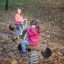
[[[37,27],[36,20],[31,21],[30,28],[27,29],[27,36],[27,40],[20,43],[23,53],[26,52],[27,45],[37,46],[40,44],[40,29]]]

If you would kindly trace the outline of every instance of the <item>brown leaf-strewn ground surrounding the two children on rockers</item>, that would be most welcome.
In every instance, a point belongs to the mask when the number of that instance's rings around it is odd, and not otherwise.
[[[21,2],[22,1],[22,2]],[[41,42],[47,41],[52,50],[49,61],[40,60],[40,64],[64,64],[64,9],[62,0],[15,0],[9,1],[9,10],[4,10],[5,2],[0,2],[0,64],[28,64],[28,58],[21,57],[17,43],[9,36],[9,24],[14,24],[16,9],[20,7],[30,22],[38,19],[41,29]]]

